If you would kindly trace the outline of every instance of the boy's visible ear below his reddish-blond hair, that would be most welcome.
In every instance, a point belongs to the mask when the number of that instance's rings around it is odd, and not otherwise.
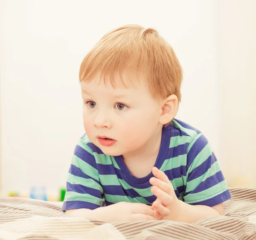
[[[172,121],[178,111],[178,98],[176,95],[170,95],[162,102],[162,111],[160,114],[159,123],[165,125]]]

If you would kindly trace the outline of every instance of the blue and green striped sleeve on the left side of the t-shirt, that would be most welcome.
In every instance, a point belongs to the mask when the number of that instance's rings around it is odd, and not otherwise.
[[[76,145],[67,176],[67,190],[62,211],[96,209],[104,202],[96,160],[87,141],[81,138]]]

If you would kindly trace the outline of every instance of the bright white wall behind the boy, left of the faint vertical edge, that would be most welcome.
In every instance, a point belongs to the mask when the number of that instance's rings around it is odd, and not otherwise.
[[[1,3],[2,192],[65,186],[83,134],[79,66],[111,29],[157,29],[184,70],[178,118],[220,155],[218,1],[13,1]]]

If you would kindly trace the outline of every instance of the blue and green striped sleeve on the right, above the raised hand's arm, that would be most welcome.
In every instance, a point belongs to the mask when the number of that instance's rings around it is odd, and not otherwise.
[[[215,154],[201,133],[188,146],[186,178],[185,203],[212,207],[231,198]]]

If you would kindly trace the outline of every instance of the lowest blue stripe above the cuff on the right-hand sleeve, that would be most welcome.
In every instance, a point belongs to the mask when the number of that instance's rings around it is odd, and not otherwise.
[[[193,191],[186,192],[186,195],[189,193],[198,193],[201,191],[204,191],[206,189],[209,189],[212,186],[215,186],[216,184],[222,182],[224,180],[224,176],[221,171],[218,171],[211,177],[208,177],[205,181],[201,182]],[[189,185],[189,182],[187,182],[187,186]]]

